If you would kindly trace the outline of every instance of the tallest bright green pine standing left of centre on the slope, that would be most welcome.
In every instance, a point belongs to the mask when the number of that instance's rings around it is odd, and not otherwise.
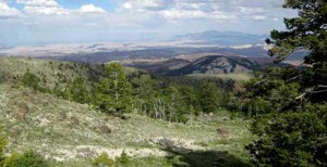
[[[122,114],[129,111],[132,87],[119,63],[106,65],[107,78],[102,78],[96,90],[94,103],[106,113]]]

